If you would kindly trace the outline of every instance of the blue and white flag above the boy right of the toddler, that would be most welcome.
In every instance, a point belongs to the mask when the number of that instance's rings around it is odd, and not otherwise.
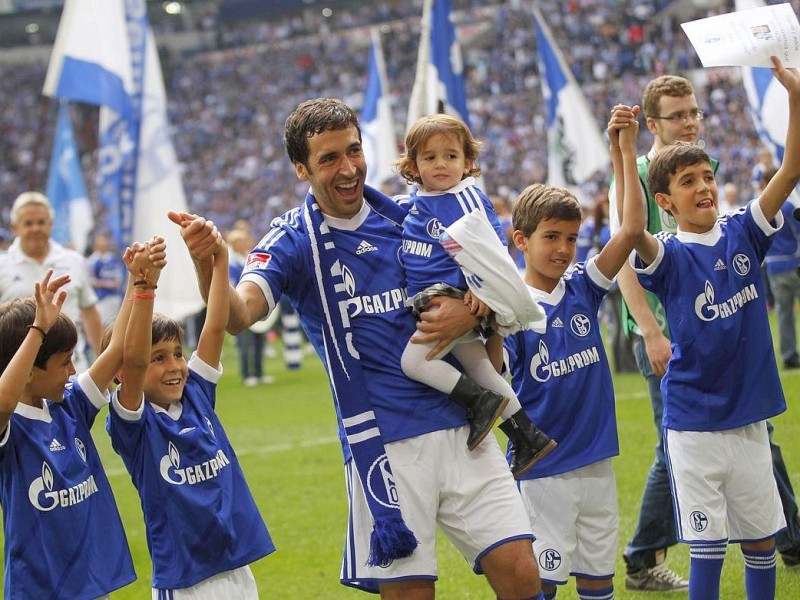
[[[580,198],[579,186],[597,171],[609,168],[608,144],[535,5],[533,15],[547,105],[547,182],[565,187]]]

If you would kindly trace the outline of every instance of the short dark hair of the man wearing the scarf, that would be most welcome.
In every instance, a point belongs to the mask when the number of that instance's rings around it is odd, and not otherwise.
[[[361,141],[358,116],[338,98],[315,98],[301,102],[286,118],[283,145],[289,160],[308,166],[308,139],[323,131],[355,127]]]

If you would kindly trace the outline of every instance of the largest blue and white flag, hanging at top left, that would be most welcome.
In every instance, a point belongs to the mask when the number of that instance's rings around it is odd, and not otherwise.
[[[181,319],[203,302],[167,210],[186,211],[166,93],[144,0],[66,0],[44,94],[100,106],[98,195],[120,250],[161,235],[168,276],[156,309]]]

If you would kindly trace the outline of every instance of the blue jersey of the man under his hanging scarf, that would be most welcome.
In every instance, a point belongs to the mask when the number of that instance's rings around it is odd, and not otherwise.
[[[301,224],[302,210],[289,211],[273,222],[248,256],[242,281],[258,285],[270,306],[286,295],[324,361],[325,317],[314,286],[311,244]],[[416,327],[405,306],[400,224],[379,215],[367,202],[352,219],[326,218],[326,223],[340,255],[342,285],[350,296],[338,307],[346,315],[345,327],[353,332],[346,342],[353,343],[361,356],[384,443],[463,425],[463,408],[441,392],[410,380],[400,369],[400,356]],[[346,446],[344,452],[346,459]]]

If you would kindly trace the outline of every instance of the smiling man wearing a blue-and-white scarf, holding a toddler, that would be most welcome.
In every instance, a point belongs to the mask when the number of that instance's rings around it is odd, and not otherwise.
[[[250,253],[230,291],[228,330],[288,297],[326,366],[350,500],[341,582],[382,598],[434,598],[439,526],[497,597],[541,598],[530,523],[497,441],[467,450],[464,409],[400,369],[403,344],[391,340],[416,326],[398,260],[405,209],[364,185],[355,113],[335,99],[303,102],[286,120],[284,142],[311,189]],[[200,217],[171,218],[183,219],[207,292],[219,233]],[[476,324],[460,301],[437,303],[419,325],[430,336],[417,338],[438,340],[431,355]],[[398,542],[409,532],[410,543]]]

